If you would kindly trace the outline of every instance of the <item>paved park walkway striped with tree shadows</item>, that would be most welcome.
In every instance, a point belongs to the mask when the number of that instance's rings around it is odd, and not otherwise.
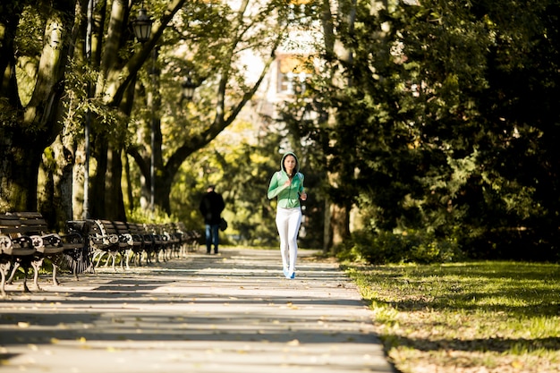
[[[2,372],[394,372],[370,312],[334,263],[300,250],[294,280],[276,250],[115,272],[0,299]]]

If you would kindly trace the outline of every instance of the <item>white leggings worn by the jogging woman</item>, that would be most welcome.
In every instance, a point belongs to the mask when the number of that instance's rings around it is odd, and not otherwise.
[[[298,256],[298,232],[301,225],[301,208],[278,208],[276,226],[280,234],[280,254],[282,265],[289,272],[295,271]]]

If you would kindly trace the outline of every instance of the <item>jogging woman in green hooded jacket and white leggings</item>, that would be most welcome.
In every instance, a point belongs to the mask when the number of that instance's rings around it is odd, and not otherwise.
[[[301,225],[300,200],[307,199],[307,193],[303,189],[303,179],[298,158],[292,152],[288,152],[282,157],[280,171],[272,175],[268,185],[268,199],[278,199],[276,227],[280,235],[280,254],[286,278],[295,277],[297,239]]]

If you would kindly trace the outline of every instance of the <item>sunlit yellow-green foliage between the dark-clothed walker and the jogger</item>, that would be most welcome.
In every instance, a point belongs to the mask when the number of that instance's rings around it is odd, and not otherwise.
[[[188,226],[203,229],[199,201],[208,184],[225,200],[225,234],[235,243],[276,245],[274,212],[267,200],[271,174],[276,171],[278,137],[273,133],[255,144],[251,123],[238,122],[213,141],[213,147],[199,150],[182,165],[174,182],[174,214]]]

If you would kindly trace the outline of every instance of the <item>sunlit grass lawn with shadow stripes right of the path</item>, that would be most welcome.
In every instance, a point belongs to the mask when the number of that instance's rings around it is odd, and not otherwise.
[[[395,367],[560,371],[560,266],[476,262],[347,267]]]

